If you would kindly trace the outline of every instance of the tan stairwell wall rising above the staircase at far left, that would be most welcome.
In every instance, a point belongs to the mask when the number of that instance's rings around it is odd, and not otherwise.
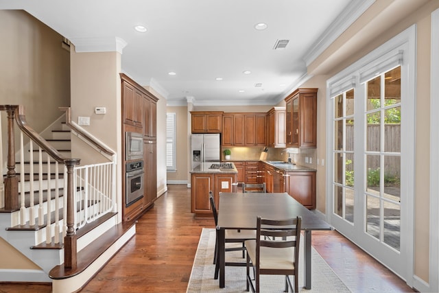
[[[70,106],[69,51],[60,34],[23,10],[0,10],[0,39],[0,104],[25,106],[27,123],[41,132],[62,115],[58,107]]]

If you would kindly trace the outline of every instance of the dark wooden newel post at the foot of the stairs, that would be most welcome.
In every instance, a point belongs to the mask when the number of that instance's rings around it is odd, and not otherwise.
[[[67,159],[67,234],[64,237],[64,268],[75,270],[77,265],[77,248],[75,235],[75,196],[73,191],[73,168],[80,159]]]

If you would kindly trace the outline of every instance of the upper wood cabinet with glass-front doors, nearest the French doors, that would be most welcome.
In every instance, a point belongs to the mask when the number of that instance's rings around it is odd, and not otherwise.
[[[285,98],[287,147],[317,147],[317,90],[296,89]]]

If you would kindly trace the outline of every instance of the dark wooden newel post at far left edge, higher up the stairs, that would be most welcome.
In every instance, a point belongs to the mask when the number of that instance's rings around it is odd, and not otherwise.
[[[8,172],[5,178],[5,209],[19,209],[19,178],[15,174],[14,119],[18,106],[6,105],[8,113]]]

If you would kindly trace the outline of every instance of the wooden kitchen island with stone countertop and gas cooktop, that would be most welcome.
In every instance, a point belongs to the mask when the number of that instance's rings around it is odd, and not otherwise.
[[[234,163],[200,163],[191,169],[191,213],[195,218],[212,218],[209,191],[213,192],[219,210],[219,192],[233,192],[237,185],[238,170]]]

